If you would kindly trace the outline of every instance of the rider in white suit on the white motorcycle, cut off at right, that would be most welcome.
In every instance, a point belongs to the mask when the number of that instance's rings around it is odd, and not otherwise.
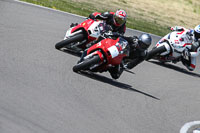
[[[171,30],[179,32],[177,34],[182,35],[182,40],[189,42],[186,45],[192,45],[190,50],[186,49],[183,52],[183,56],[186,58],[182,58],[181,61],[188,70],[193,71],[196,67],[196,57],[200,53],[200,25],[197,25],[194,29],[175,26],[171,27]]]

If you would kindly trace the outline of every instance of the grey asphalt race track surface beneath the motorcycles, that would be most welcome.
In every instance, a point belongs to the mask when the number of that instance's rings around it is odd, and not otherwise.
[[[199,59],[194,72],[143,62],[117,81],[74,73],[78,57],[54,45],[83,20],[0,0],[1,133],[177,133],[200,120]]]

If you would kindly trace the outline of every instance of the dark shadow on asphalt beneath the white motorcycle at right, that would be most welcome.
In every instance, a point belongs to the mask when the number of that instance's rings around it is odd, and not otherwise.
[[[188,74],[188,75],[193,76],[193,77],[200,78],[200,74],[197,74],[197,73],[194,73],[194,72],[190,72],[190,71],[188,71],[188,70],[186,70],[184,68],[181,68],[181,67],[178,67],[178,66],[175,66],[175,65],[172,65],[172,64],[161,63],[161,62],[158,62],[158,61],[148,61],[148,62],[154,63],[156,65],[160,65],[162,67],[170,68],[170,69],[176,70],[178,72],[181,72],[181,73],[184,73],[184,74]]]

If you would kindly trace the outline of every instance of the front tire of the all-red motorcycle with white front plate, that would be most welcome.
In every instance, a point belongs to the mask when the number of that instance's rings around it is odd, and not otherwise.
[[[100,60],[101,60],[100,57],[98,55],[95,55],[87,60],[84,60],[83,62],[76,64],[73,67],[73,71],[78,72],[81,70],[85,70],[85,69],[89,68],[90,66],[99,63]]]

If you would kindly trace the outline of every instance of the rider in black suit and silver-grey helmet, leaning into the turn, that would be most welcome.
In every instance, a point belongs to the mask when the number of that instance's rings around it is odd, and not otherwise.
[[[152,42],[151,36],[146,33],[141,34],[139,37],[123,36],[123,38],[129,43],[129,56],[124,58],[123,62],[120,65],[109,69],[110,75],[114,79],[118,79],[124,69],[132,69],[143,62],[147,57],[147,49]]]

